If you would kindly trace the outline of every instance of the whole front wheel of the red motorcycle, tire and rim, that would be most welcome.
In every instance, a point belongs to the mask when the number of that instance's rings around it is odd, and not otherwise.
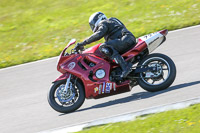
[[[66,80],[57,81],[50,88],[48,102],[50,106],[61,113],[77,110],[85,101],[85,92],[78,81],[70,81],[70,88],[65,89]]]

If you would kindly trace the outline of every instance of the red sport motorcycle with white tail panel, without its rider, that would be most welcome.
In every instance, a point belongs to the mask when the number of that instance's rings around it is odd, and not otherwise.
[[[168,30],[162,30],[138,38],[137,45],[122,54],[133,64],[132,72],[121,78],[121,68],[104,57],[97,44],[84,51],[66,50],[76,40],[72,39],[61,52],[57,70],[62,75],[53,82],[48,93],[51,107],[62,113],[77,110],[85,98],[102,98],[130,91],[140,85],[156,92],[167,89],[175,80],[176,67],[166,55],[153,53],[165,40]]]

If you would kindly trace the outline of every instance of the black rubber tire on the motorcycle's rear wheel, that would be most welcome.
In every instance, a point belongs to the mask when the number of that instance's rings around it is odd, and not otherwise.
[[[154,54],[150,54],[148,56],[146,56],[144,59],[142,59],[141,62],[138,63],[138,67],[141,67],[141,65],[144,65],[145,62],[148,61],[154,61],[156,59],[163,59],[163,62],[167,62],[168,64],[166,65],[168,68],[168,76],[167,78],[164,80],[163,78],[163,82],[160,84],[155,84],[154,85],[154,81],[152,82],[152,84],[148,83],[148,81],[146,81],[142,76],[142,73],[139,74],[140,78],[137,79],[138,84],[144,89],[147,90],[149,92],[156,92],[156,91],[161,91],[164,89],[167,89],[175,80],[176,77],[176,66],[174,64],[174,62],[166,55],[164,54],[160,54],[160,53],[154,53]],[[163,73],[163,71],[162,71]],[[163,76],[162,76],[163,77]],[[151,80],[151,79],[148,79]],[[154,80],[154,79],[152,79]]]

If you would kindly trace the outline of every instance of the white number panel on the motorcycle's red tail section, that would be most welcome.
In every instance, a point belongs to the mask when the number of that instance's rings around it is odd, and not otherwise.
[[[159,32],[151,33],[140,37],[142,41],[145,41],[149,49],[149,53],[154,51],[163,41],[164,36]]]

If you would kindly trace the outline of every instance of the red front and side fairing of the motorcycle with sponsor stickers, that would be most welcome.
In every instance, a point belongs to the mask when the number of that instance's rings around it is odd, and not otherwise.
[[[66,79],[69,74],[78,77],[85,88],[86,98],[101,98],[130,91],[129,81],[123,82],[120,85],[110,81],[109,76],[112,67],[110,62],[93,53],[98,49],[98,46],[86,50],[83,54],[72,53],[67,56],[64,55],[65,51],[63,50],[57,67],[58,71],[63,73],[63,75],[55,82]],[[88,61],[95,65],[91,66]],[[100,69],[105,71],[105,76],[97,78],[96,73]]]

